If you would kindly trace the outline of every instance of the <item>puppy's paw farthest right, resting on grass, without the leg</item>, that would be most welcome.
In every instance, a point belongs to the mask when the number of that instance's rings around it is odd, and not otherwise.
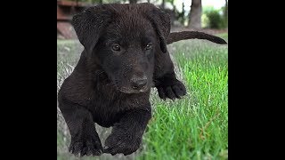
[[[170,85],[161,84],[157,86],[160,99],[166,100],[169,98],[171,100],[175,100],[175,98],[180,99],[183,95],[186,94],[186,88],[184,84],[177,79],[169,84]]]

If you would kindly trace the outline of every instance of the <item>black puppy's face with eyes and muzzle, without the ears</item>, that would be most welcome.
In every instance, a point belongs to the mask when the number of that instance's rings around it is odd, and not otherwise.
[[[146,92],[151,88],[156,31],[149,20],[118,17],[108,25],[94,53],[120,92]]]

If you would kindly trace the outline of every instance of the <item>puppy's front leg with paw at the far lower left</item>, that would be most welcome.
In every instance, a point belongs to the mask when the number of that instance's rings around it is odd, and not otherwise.
[[[102,155],[102,144],[91,113],[82,106],[61,101],[62,116],[71,135],[69,152],[79,156]]]

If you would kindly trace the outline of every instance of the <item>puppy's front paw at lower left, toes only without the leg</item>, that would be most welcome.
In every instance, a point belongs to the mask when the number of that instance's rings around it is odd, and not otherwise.
[[[69,152],[75,156],[100,156],[102,155],[101,141],[88,137],[81,140],[72,140],[69,145]]]

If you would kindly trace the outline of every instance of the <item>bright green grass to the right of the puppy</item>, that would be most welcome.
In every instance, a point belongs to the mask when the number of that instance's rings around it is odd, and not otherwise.
[[[227,159],[227,47],[200,43],[176,47],[188,94],[175,102],[154,97],[142,159]]]

